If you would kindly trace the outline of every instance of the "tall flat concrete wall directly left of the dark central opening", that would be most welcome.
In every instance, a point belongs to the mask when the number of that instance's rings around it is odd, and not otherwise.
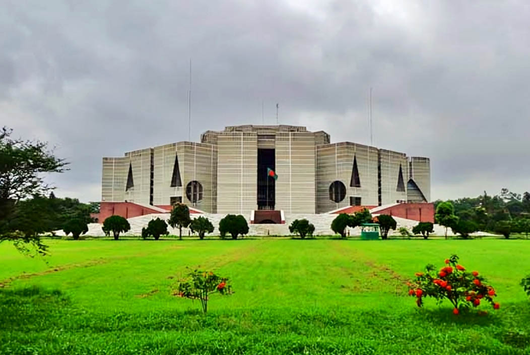
[[[217,213],[248,215],[258,208],[258,135],[217,134]]]

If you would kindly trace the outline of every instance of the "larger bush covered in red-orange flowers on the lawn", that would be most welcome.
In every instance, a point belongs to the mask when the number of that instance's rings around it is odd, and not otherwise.
[[[433,297],[440,304],[447,299],[453,305],[453,313],[477,307],[481,303],[490,303],[493,309],[500,305],[493,300],[497,296],[494,288],[488,285],[478,271],[469,272],[458,264],[458,256],[452,255],[445,260],[445,266],[436,271],[429,264],[426,272],[417,272],[416,279],[408,283],[409,295],[416,297],[418,307],[423,305],[423,298]]]

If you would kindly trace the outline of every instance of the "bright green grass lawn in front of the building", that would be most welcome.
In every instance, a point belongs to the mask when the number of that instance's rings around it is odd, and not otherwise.
[[[3,354],[528,354],[530,241],[49,240],[48,264],[0,244]],[[403,281],[456,253],[501,309],[418,309]],[[185,267],[231,277],[209,313],[171,296]]]

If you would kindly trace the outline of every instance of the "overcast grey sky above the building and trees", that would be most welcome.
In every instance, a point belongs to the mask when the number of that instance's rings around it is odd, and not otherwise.
[[[431,159],[431,197],[530,190],[528,1],[0,0],[0,125],[56,146],[57,196],[101,158],[276,123]]]

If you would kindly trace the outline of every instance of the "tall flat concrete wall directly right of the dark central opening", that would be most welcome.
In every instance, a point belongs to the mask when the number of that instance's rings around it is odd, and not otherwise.
[[[276,205],[288,213],[315,212],[315,135],[277,132]]]

